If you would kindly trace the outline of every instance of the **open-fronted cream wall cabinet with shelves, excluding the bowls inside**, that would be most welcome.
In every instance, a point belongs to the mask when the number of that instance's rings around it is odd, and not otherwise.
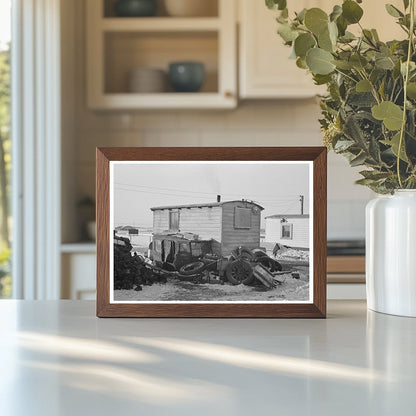
[[[234,108],[237,105],[236,4],[218,2],[217,16],[116,17],[104,0],[88,0],[87,102],[90,109]],[[111,6],[111,3],[110,3]],[[130,71],[167,71],[175,61],[199,61],[200,92],[132,93]]]

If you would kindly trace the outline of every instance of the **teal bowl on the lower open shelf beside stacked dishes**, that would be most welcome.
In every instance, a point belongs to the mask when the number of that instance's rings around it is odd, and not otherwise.
[[[205,81],[205,66],[201,62],[172,62],[169,81],[177,92],[198,92]]]

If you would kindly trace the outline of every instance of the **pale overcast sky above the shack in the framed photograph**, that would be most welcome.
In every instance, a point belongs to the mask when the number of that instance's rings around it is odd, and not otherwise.
[[[309,213],[309,164],[114,162],[114,225],[151,227],[151,207],[249,199],[264,217]]]

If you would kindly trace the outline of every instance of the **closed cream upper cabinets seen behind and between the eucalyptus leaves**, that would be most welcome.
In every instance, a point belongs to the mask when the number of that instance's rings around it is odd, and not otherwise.
[[[320,7],[330,12],[340,1],[299,0],[289,3],[289,8],[300,11],[303,8]],[[401,0],[390,3],[402,9]],[[388,15],[384,3],[366,0],[362,25],[376,28],[381,40],[403,38],[404,32]],[[276,11],[266,8],[263,1],[239,0],[239,91],[242,99],[290,99],[308,98],[325,92],[324,87],[313,84],[311,75],[298,68],[289,59],[290,48],[277,35]],[[358,34],[358,25],[349,30]]]

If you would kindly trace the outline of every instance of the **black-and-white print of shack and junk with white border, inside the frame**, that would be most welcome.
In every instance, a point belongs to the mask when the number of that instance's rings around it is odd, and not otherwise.
[[[110,163],[110,303],[312,303],[309,161]]]

